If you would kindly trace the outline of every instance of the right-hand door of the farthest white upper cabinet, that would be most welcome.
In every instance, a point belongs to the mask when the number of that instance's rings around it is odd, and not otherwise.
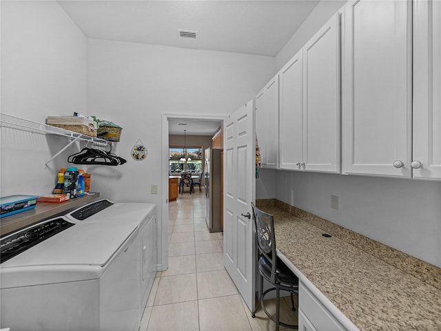
[[[265,86],[265,168],[278,168],[278,74]]]

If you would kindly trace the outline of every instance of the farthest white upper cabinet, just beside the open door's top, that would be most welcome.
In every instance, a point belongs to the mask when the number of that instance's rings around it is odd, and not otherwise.
[[[278,168],[278,75],[256,95],[256,135],[262,168]]]

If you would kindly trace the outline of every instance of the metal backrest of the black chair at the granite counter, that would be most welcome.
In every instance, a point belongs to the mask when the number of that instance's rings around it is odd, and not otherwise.
[[[256,226],[257,258],[259,260],[263,255],[271,263],[271,281],[276,282],[277,250],[274,217],[256,208],[254,203],[251,203],[251,205],[254,225]]]

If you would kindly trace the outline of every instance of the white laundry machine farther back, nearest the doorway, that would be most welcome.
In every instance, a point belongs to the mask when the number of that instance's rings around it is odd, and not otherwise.
[[[158,243],[156,238],[156,205],[154,203],[114,203],[101,199],[66,214],[73,223],[125,223],[139,224],[140,245],[140,308],[141,314],[152,289],[157,271]]]

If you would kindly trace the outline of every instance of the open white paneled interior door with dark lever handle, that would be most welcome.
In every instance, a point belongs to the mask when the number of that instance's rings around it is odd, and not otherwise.
[[[254,310],[256,149],[253,101],[224,121],[223,263],[240,295]],[[248,217],[247,217],[248,216]]]

